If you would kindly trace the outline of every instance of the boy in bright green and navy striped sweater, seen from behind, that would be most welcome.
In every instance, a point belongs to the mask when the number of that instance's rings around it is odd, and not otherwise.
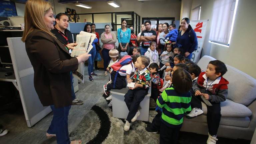
[[[172,87],[165,89],[157,99],[157,105],[163,109],[160,144],[177,144],[183,117],[191,111],[191,86],[190,74],[183,68],[177,69],[172,76]]]

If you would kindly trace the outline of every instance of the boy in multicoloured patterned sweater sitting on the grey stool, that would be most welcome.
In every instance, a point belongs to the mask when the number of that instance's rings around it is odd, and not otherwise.
[[[132,79],[128,80],[128,83],[135,82],[134,87],[128,87],[128,92],[124,95],[124,101],[129,110],[126,123],[124,125],[124,130],[128,131],[130,129],[130,123],[137,120],[140,115],[138,111],[140,102],[148,94],[150,87],[150,72],[147,70],[150,60],[146,56],[140,56],[137,58],[134,66],[137,68],[137,73]]]

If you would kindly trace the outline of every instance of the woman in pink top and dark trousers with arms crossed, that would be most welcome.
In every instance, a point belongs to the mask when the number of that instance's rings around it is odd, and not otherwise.
[[[103,65],[104,65],[104,71],[105,71],[105,76],[108,75],[107,73],[107,67],[110,61],[109,57],[109,51],[113,48],[115,48],[115,43],[116,43],[116,34],[111,32],[111,28],[109,25],[105,25],[105,32],[103,32],[100,36],[100,40],[103,43],[102,51],[101,54],[103,56]]]

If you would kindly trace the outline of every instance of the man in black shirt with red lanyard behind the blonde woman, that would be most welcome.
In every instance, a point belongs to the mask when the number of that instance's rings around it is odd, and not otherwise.
[[[59,13],[56,15],[56,24],[54,25],[54,29],[51,32],[59,39],[63,44],[67,45],[69,43],[73,43],[72,33],[67,30],[69,20],[68,16],[65,13]],[[69,51],[71,53],[71,51]],[[74,92],[74,77],[72,72],[70,72],[70,80],[71,80],[71,95],[72,95],[72,104],[82,105],[84,102],[78,98],[76,98]]]

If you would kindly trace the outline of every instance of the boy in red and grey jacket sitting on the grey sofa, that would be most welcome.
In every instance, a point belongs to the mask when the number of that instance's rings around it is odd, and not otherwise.
[[[192,86],[195,98],[197,99],[191,101],[193,109],[186,117],[191,119],[202,114],[201,101],[205,101],[209,129],[207,144],[216,144],[218,140],[216,137],[221,119],[220,103],[225,101],[228,95],[227,85],[229,82],[222,77],[226,72],[227,67],[223,62],[219,60],[210,61],[206,71],[200,73]]]

